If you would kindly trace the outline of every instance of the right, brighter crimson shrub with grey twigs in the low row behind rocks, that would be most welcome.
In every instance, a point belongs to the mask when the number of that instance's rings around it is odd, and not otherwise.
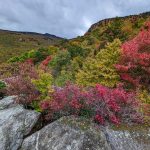
[[[110,89],[99,84],[90,92],[93,93],[92,99],[87,103],[95,114],[102,116],[104,120],[115,124],[124,121],[142,121],[141,117],[139,120],[134,118],[135,115],[139,116],[138,101],[134,93],[126,92],[121,87]]]

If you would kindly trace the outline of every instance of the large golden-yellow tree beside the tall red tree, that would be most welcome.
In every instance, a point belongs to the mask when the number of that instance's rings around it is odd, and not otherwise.
[[[87,58],[83,67],[76,74],[77,84],[94,86],[97,83],[114,87],[119,82],[119,75],[114,67],[119,61],[121,42],[115,39],[101,49],[95,58]]]

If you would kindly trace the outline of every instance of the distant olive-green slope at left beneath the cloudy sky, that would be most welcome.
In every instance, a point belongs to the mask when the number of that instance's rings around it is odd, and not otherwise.
[[[58,44],[61,40],[48,34],[0,30],[0,63],[31,49]]]

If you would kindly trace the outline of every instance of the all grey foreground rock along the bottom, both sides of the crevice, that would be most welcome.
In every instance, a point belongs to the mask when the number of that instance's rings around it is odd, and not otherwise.
[[[40,113],[14,104],[13,99],[0,100],[0,150],[150,149],[149,128],[115,130],[73,116],[63,117],[31,134]]]

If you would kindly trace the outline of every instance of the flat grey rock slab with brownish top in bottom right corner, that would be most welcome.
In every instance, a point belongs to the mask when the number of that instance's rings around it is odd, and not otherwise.
[[[150,128],[106,128],[107,140],[114,150],[150,150]]]

